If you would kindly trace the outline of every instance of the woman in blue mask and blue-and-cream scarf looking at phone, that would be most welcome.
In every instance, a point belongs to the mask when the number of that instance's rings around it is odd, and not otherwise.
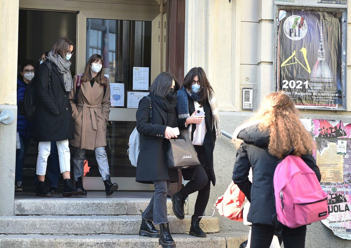
[[[210,197],[211,181],[213,186],[216,183],[213,149],[216,139],[221,136],[221,130],[216,96],[203,68],[194,67],[185,76],[184,85],[178,91],[177,112],[181,133],[186,139],[192,140],[201,165],[181,170],[183,178],[190,182],[172,195],[173,212],[178,219],[183,220],[185,199],[198,192],[189,234],[206,237],[199,223]]]

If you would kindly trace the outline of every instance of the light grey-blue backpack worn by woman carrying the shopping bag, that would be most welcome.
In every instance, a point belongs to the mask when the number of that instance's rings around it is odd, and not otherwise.
[[[149,101],[150,111],[149,111],[149,120],[152,117],[152,100],[150,96],[144,96]],[[138,156],[140,151],[141,144],[141,135],[138,133],[137,128],[134,128],[131,136],[129,136],[128,150],[127,154],[129,160],[131,161],[132,166],[137,167]]]

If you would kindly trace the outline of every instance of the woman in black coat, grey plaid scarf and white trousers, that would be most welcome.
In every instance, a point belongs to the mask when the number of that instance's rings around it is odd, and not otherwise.
[[[37,196],[52,196],[44,183],[52,141],[56,142],[59,152],[60,169],[65,183],[63,196],[82,193],[82,190],[75,188],[71,181],[71,153],[68,148],[68,140],[74,138],[72,108],[68,100],[68,92],[73,88],[72,75],[69,71],[72,54],[73,43],[61,38],[53,45],[46,61],[39,65],[34,82],[37,87],[34,140],[39,141]]]

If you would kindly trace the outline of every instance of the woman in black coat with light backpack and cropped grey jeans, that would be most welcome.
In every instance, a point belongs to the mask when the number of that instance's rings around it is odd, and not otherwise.
[[[150,94],[139,102],[137,130],[141,145],[137,162],[137,182],[153,183],[155,193],[142,214],[140,236],[159,237],[165,248],[176,247],[168,229],[167,192],[172,182],[178,182],[178,170],[168,169],[168,139],[177,138],[177,90],[176,78],[168,73],[159,74],[150,87]],[[159,224],[160,232],[154,224]]]

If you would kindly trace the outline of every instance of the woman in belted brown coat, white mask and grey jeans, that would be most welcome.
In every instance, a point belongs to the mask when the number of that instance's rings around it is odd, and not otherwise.
[[[72,106],[75,139],[69,143],[74,146],[75,187],[81,189],[84,195],[87,194],[82,183],[85,150],[94,150],[106,195],[112,195],[118,189],[118,185],[111,182],[105,150],[111,89],[108,78],[104,76],[102,56],[93,54],[85,66],[84,73],[74,76],[73,82],[74,88],[69,93],[69,100]]]

